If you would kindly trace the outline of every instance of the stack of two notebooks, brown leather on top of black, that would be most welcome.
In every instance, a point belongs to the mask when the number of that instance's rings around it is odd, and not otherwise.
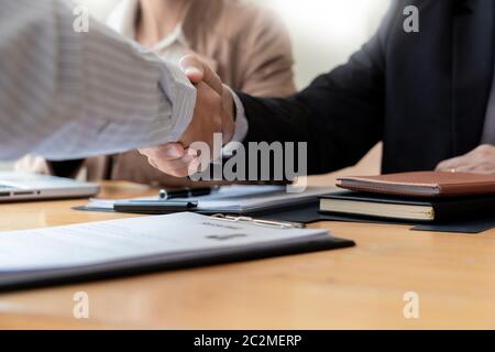
[[[495,217],[495,177],[419,172],[345,177],[321,197],[323,213],[435,222]]]

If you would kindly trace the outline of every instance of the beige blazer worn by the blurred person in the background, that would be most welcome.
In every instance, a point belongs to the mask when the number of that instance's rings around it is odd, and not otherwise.
[[[238,0],[197,0],[183,22],[193,52],[207,59],[233,89],[253,96],[286,97],[295,92],[290,40],[271,11]],[[89,180],[120,179],[156,186],[190,186],[164,175],[138,152],[92,157],[80,163],[47,163],[28,156],[18,169],[75,177],[84,167]]]

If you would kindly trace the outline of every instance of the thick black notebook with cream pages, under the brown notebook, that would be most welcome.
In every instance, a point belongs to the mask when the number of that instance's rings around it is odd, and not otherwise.
[[[495,216],[495,196],[432,199],[341,191],[321,197],[320,212],[436,222]]]

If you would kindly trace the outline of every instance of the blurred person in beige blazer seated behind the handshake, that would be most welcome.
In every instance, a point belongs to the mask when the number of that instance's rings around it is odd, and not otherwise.
[[[167,62],[197,54],[233,89],[258,97],[287,97],[296,90],[288,33],[266,9],[239,0],[123,0],[107,24]],[[94,182],[195,185],[158,172],[138,151],[65,162],[30,155],[16,169],[64,177],[86,173]]]

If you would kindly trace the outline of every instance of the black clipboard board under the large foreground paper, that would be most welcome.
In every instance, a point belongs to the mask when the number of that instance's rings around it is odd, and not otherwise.
[[[263,228],[260,228],[263,231]],[[265,242],[244,246],[228,246],[215,250],[175,252],[99,263],[35,271],[0,271],[0,292],[35,288],[87,280],[100,280],[144,273],[183,270],[224,263],[261,260],[318,251],[354,246],[350,240],[339,239],[322,232],[309,238],[295,238],[284,242]]]

